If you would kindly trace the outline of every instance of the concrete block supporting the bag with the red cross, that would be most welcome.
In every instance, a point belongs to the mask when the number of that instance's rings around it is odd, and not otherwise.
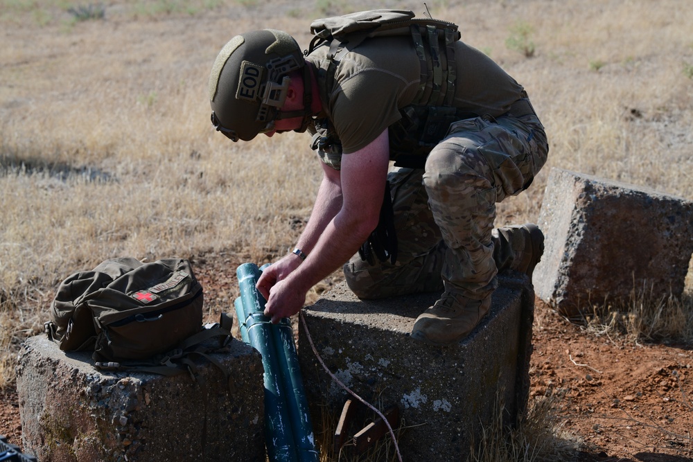
[[[103,373],[90,353],[40,335],[22,346],[17,392],[25,452],[42,462],[265,461],[263,366],[238,340],[200,377]]]

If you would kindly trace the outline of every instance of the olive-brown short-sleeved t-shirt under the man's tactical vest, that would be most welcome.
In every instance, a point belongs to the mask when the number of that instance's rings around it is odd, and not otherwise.
[[[306,59],[324,72],[328,51],[320,46]],[[455,42],[455,62],[455,107],[495,117],[520,98],[523,87],[475,48]],[[366,39],[341,57],[333,84],[320,98],[344,154],[365,148],[401,118],[399,109],[410,105],[419,90],[419,66],[412,38],[406,36]]]

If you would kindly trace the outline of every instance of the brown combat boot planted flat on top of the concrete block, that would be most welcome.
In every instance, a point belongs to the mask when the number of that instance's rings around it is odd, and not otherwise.
[[[446,345],[464,339],[491,308],[491,296],[483,300],[443,292],[441,298],[416,318],[412,337],[432,345]]]

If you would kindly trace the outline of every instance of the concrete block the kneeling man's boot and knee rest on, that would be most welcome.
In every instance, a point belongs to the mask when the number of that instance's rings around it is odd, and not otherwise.
[[[410,337],[416,317],[439,295],[361,301],[342,283],[304,310],[313,343],[332,373],[371,404],[401,409],[407,428],[398,445],[405,461],[464,461],[499,397],[507,422],[514,423],[527,405],[534,319],[528,278],[502,278],[480,326],[443,347]],[[324,405],[339,416],[351,396],[319,365],[303,328],[299,353],[313,421],[320,421],[317,408]]]

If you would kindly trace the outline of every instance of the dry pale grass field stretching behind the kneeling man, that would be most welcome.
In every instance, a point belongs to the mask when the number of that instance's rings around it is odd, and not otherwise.
[[[370,8],[424,10],[404,0],[0,0],[0,388],[13,386],[19,343],[42,331],[72,272],[116,256],[286,252],[321,175],[308,137],[239,144],[213,132],[209,69],[236,33],[279,28],[306,48],[312,19]],[[693,199],[687,2],[428,8],[526,87],[549,135],[545,170],[502,204],[499,224],[536,220],[552,167]]]

